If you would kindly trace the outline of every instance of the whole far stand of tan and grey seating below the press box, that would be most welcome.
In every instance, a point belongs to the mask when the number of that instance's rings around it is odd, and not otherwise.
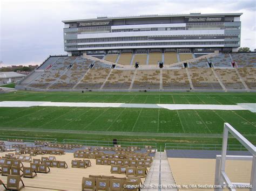
[[[105,60],[130,65],[138,61],[142,67],[116,66],[111,63],[91,60],[82,56],[53,56],[42,66],[21,81],[21,86],[42,90],[189,90],[190,80],[194,90],[255,90],[256,64],[254,53],[219,54],[188,63],[164,67],[162,72],[157,62],[163,54],[110,54]],[[191,53],[179,53],[180,60],[193,58]],[[146,65],[149,62],[150,66]],[[238,68],[231,66],[232,60]],[[177,53],[164,53],[164,65],[178,62]],[[208,62],[212,62],[209,68]],[[153,66],[153,68],[152,68]],[[128,68],[127,68],[128,67]],[[190,74],[189,76],[187,76]],[[222,84],[220,84],[222,82]],[[222,86],[222,87],[221,87]],[[224,87],[223,87],[224,86]],[[192,87],[192,88],[193,88]]]

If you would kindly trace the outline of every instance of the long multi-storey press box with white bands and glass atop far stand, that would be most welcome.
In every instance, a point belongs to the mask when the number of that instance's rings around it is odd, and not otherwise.
[[[69,55],[236,52],[241,15],[191,13],[64,20],[64,49]]]

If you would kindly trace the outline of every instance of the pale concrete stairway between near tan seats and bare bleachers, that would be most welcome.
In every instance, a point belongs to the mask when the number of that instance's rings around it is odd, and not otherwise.
[[[178,190],[176,188],[169,188],[170,185],[176,185],[176,183],[171,172],[166,152],[156,152],[144,185],[161,185],[163,188],[160,188],[160,190]],[[159,188],[142,188],[142,190],[159,191]]]

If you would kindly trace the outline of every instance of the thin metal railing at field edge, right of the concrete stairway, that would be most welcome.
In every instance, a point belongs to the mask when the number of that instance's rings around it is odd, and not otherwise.
[[[221,144],[165,143],[165,150],[214,150],[220,151]],[[243,145],[228,145],[228,151],[247,151]]]

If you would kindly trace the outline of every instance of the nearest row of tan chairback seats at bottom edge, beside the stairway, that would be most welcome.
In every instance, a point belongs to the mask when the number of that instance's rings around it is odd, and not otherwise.
[[[102,176],[102,178],[96,177],[93,177],[92,175],[89,175],[89,178],[83,177],[82,190],[137,191],[142,183],[139,177],[132,176],[127,178],[117,178],[114,176]]]

